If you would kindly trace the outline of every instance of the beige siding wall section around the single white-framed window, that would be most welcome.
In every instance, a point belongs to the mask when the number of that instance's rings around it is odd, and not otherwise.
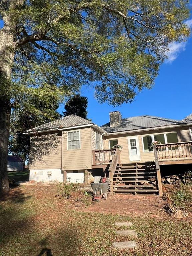
[[[74,129],[80,132],[80,149],[67,149],[67,131],[63,132],[63,170],[91,169],[91,128]]]

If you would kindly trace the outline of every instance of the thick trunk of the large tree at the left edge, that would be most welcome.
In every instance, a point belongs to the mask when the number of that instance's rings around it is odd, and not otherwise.
[[[11,0],[9,9],[16,7],[16,1]],[[1,193],[9,191],[7,173],[7,154],[9,141],[9,125],[11,116],[11,69],[14,61],[15,47],[14,33],[16,24],[11,21],[9,12],[3,13],[4,26],[0,30],[0,186]]]

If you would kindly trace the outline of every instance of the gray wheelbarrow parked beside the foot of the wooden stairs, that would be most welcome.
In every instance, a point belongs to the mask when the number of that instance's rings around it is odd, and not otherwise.
[[[104,197],[107,200],[107,189],[109,188],[109,183],[91,183],[93,189],[93,199],[99,202],[99,199]]]

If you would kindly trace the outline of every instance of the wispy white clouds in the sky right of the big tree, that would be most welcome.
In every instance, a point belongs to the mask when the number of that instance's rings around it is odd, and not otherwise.
[[[189,28],[192,27],[192,19],[184,22]],[[167,59],[165,63],[172,63],[182,51],[186,49],[186,42],[173,42],[168,45],[169,51],[167,52]]]

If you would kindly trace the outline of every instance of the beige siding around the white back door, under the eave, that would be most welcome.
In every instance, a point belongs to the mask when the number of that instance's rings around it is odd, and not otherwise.
[[[126,134],[119,134],[119,135],[110,135],[105,137],[105,147],[106,149],[109,149],[109,140],[111,139],[117,139],[118,144],[123,146],[123,149],[121,150],[121,162],[122,163],[128,163],[129,160],[129,151],[128,151],[128,139],[127,137],[138,137],[139,142],[139,151],[140,151],[140,161],[141,162],[148,162],[148,161],[154,161],[154,153],[152,152],[143,152],[143,144],[142,144],[142,136],[148,136],[152,134],[164,134],[169,132],[177,132],[177,137],[179,142],[183,141],[190,141],[190,133],[189,128],[186,127],[178,127],[178,128],[170,128],[170,129],[159,129],[157,130],[151,130],[146,132],[136,132],[136,133],[126,133]],[[137,161],[138,162],[138,161]]]

